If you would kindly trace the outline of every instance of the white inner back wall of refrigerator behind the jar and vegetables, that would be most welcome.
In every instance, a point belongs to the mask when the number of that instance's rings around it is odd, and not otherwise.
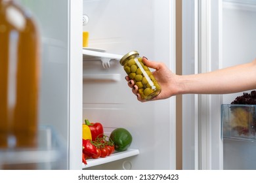
[[[117,56],[137,50],[174,68],[172,3],[83,0],[89,48]],[[106,135],[116,127],[127,129],[133,136],[130,148],[139,150],[136,156],[83,169],[175,169],[175,99],[140,103],[125,76],[118,59],[104,68],[102,60],[83,57],[83,120],[102,123]]]

